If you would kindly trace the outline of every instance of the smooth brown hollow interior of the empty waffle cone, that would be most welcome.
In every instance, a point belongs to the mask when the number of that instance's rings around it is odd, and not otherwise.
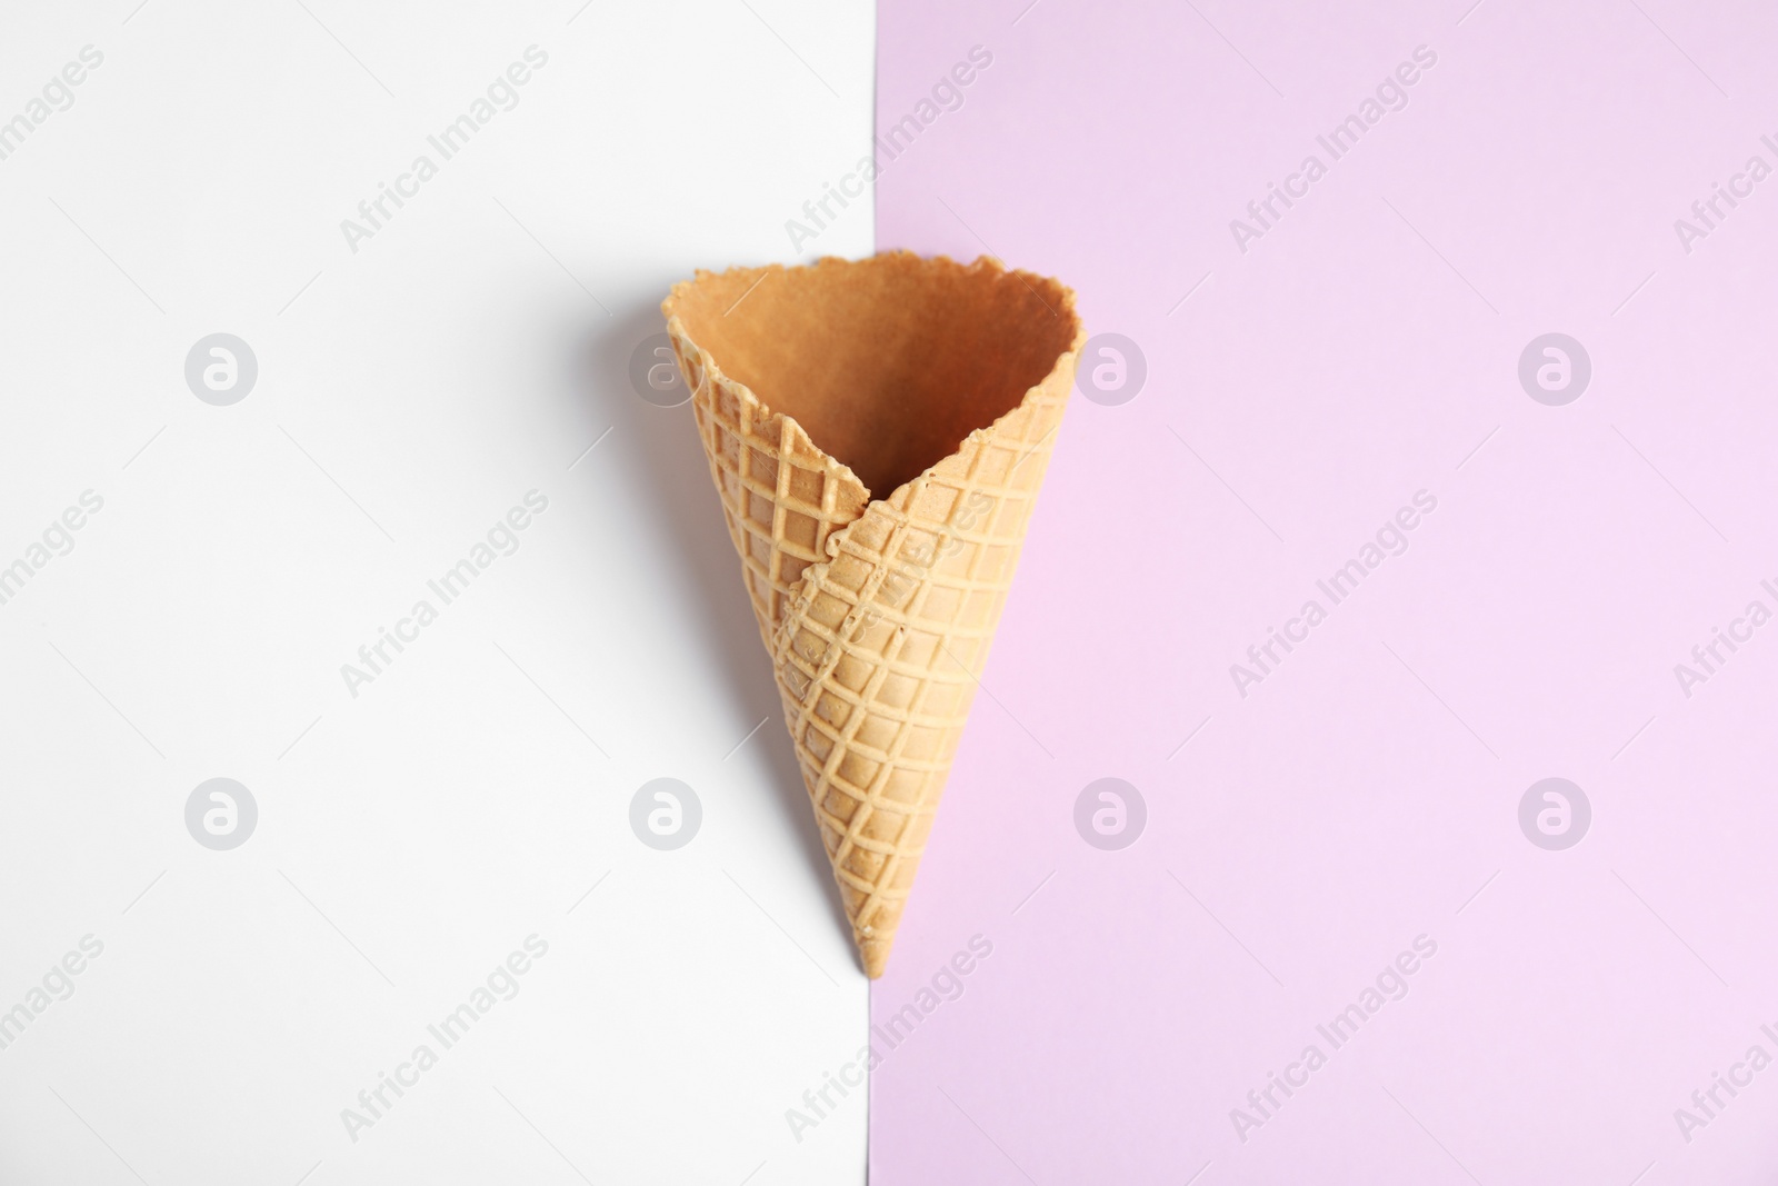
[[[1076,331],[1054,281],[914,256],[704,276],[677,313],[875,498],[1017,407]]]

